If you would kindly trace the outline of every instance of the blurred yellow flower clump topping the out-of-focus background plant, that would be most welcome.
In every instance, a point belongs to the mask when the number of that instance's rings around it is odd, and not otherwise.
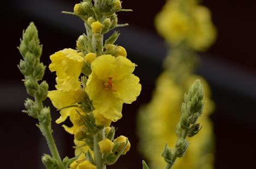
[[[155,22],[158,33],[173,46],[185,43],[205,51],[216,39],[211,12],[194,0],[167,1]]]

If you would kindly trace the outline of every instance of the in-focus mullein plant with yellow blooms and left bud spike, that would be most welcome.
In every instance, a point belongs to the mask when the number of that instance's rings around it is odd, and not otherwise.
[[[50,56],[49,69],[56,73],[56,90],[48,91],[43,79],[46,66],[40,62],[42,46],[38,31],[31,23],[23,31],[19,51],[23,57],[18,65],[27,93],[34,99],[25,101],[26,112],[38,119],[37,127],[45,136],[51,155],[43,155],[46,168],[106,168],[130,149],[126,136],[115,137],[111,126],[122,117],[123,103],[130,104],[140,95],[139,78],[133,74],[135,64],[127,58],[126,49],[115,45],[120,33],[110,30],[126,26],[118,24],[116,12],[122,9],[120,0],[84,0],[75,4],[73,12],[84,21],[86,33],[78,37],[76,48],[66,48]],[[50,98],[61,116],[73,126],[62,125],[74,135],[74,157],[61,159],[52,137],[50,108],[43,105]]]

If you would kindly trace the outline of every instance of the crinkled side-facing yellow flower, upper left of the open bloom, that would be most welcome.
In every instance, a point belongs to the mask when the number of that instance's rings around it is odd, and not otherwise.
[[[50,59],[52,63],[49,68],[51,72],[56,71],[57,75],[56,89],[61,91],[79,90],[81,88],[79,76],[84,65],[84,58],[74,49],[69,48],[52,54]]]

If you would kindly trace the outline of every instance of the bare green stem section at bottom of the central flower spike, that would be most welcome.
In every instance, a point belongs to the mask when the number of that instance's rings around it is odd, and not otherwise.
[[[100,152],[98,142],[104,139],[104,129],[93,136],[93,152],[94,161],[96,163],[97,169],[105,169],[106,166],[103,164],[102,153]]]

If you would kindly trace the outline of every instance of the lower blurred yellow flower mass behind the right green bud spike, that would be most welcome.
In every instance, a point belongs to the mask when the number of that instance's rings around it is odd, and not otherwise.
[[[209,86],[202,77],[191,76],[185,86],[188,88],[195,79],[201,80],[205,90],[204,116],[199,118],[203,129],[195,137],[188,138],[191,144],[189,144],[186,155],[177,159],[174,169],[192,169],[199,166],[199,168],[212,169],[213,166],[212,151],[204,152],[204,149],[209,149],[205,146],[209,146],[212,141],[212,124],[207,115],[212,112],[214,105],[210,99]],[[165,143],[174,147],[176,141],[174,131],[180,119],[183,95],[182,86],[177,85],[172,74],[165,71],[157,81],[157,88],[151,102],[139,112],[140,124],[142,124],[138,131],[140,134],[139,147],[145,158],[150,161],[152,168],[164,168],[166,165],[164,159],[159,155],[162,153]]]

